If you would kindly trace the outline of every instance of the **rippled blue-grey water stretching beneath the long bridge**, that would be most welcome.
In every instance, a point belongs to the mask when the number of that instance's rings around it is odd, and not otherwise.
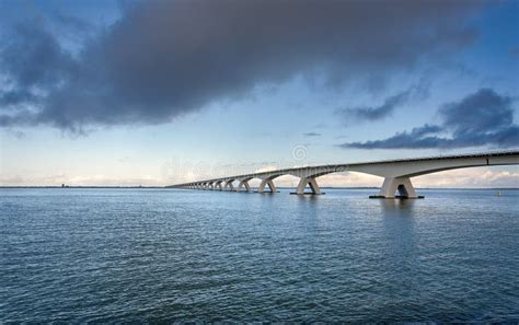
[[[326,191],[1,189],[0,323],[519,321],[519,191]]]

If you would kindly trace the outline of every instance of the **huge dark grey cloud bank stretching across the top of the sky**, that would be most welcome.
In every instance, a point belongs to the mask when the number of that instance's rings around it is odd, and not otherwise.
[[[301,74],[330,84],[382,80],[470,44],[475,32],[463,22],[474,3],[148,1],[73,58],[45,26],[21,26],[1,49],[0,94],[2,105],[32,107],[2,121],[160,124]]]

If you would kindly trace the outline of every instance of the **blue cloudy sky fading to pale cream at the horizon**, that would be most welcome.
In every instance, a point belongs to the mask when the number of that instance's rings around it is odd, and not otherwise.
[[[0,0],[0,185],[514,150],[518,85],[518,1]],[[519,187],[519,169],[413,183]]]

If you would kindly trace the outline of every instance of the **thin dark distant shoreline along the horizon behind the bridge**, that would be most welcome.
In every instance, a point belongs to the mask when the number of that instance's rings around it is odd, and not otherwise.
[[[81,189],[182,189],[182,188],[171,188],[168,186],[0,186],[0,189],[8,189],[8,188],[42,188],[42,189],[73,189],[73,188],[81,188]],[[279,189],[293,189],[293,187],[289,186],[278,186]],[[376,186],[366,186],[366,187],[335,187],[335,186],[323,186],[321,188],[327,189],[379,189],[380,187]],[[519,187],[416,187],[416,189],[435,189],[435,190],[450,190],[450,189],[463,189],[463,190],[519,190]]]

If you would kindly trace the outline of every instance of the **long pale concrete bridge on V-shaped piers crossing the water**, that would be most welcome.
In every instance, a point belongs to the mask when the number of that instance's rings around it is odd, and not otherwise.
[[[384,177],[384,182],[380,188],[379,195],[372,196],[372,198],[420,198],[420,196],[416,195],[413,184],[411,183],[411,178],[414,176],[465,167],[511,164],[519,164],[519,151],[500,151],[285,169],[278,171],[197,181],[166,187],[251,191],[249,182],[253,178],[257,178],[261,181],[257,193],[276,193],[277,189],[276,185],[274,184],[274,179],[282,175],[292,175],[300,178],[296,194],[321,194],[321,189],[316,182],[318,177],[331,173],[359,172]],[[238,185],[234,185],[235,183],[238,183]],[[269,189],[268,191],[265,190],[267,186]],[[307,187],[310,188],[310,191],[305,191]],[[399,193],[399,195],[395,195],[395,193]]]

